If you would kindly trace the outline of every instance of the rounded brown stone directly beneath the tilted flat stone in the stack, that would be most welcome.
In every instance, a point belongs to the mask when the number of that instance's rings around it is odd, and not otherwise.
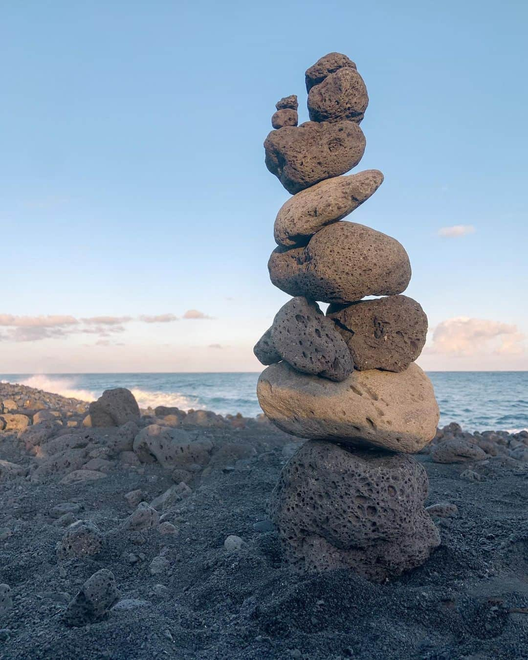
[[[276,248],[268,269],[273,284],[290,296],[322,302],[393,296],[405,291],[411,280],[401,243],[347,220],[323,227],[306,248]]]

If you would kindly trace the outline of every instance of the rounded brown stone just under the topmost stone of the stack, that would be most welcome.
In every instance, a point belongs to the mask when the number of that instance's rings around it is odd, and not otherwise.
[[[312,121],[356,121],[365,116],[367,88],[362,77],[348,67],[329,74],[308,94],[308,114]]]

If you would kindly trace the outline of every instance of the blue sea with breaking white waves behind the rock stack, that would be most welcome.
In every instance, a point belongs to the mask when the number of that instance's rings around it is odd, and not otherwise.
[[[440,406],[440,426],[468,431],[528,428],[528,372],[428,372]],[[158,405],[216,413],[261,412],[258,373],[229,374],[0,374],[0,381],[92,401],[110,387],[133,391],[140,407]]]

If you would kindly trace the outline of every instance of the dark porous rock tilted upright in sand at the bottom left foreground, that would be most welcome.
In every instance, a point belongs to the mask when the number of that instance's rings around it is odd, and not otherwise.
[[[86,626],[102,620],[121,597],[112,571],[102,568],[88,578],[63,612],[67,626]]]

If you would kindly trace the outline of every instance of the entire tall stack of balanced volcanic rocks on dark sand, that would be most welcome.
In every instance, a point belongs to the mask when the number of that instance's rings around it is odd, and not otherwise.
[[[255,345],[269,365],[257,395],[274,424],[308,439],[282,470],[271,514],[294,568],[383,581],[440,543],[424,509],[426,471],[410,455],[439,417],[414,364],[427,317],[401,295],[411,279],[403,246],[343,220],[383,182],[378,170],[345,176],[365,149],[356,65],[329,53],[306,71],[306,89],[311,121],[297,126],[297,97],[282,98],[264,143],[267,168],[293,195],[275,220],[269,274],[293,298]]]

